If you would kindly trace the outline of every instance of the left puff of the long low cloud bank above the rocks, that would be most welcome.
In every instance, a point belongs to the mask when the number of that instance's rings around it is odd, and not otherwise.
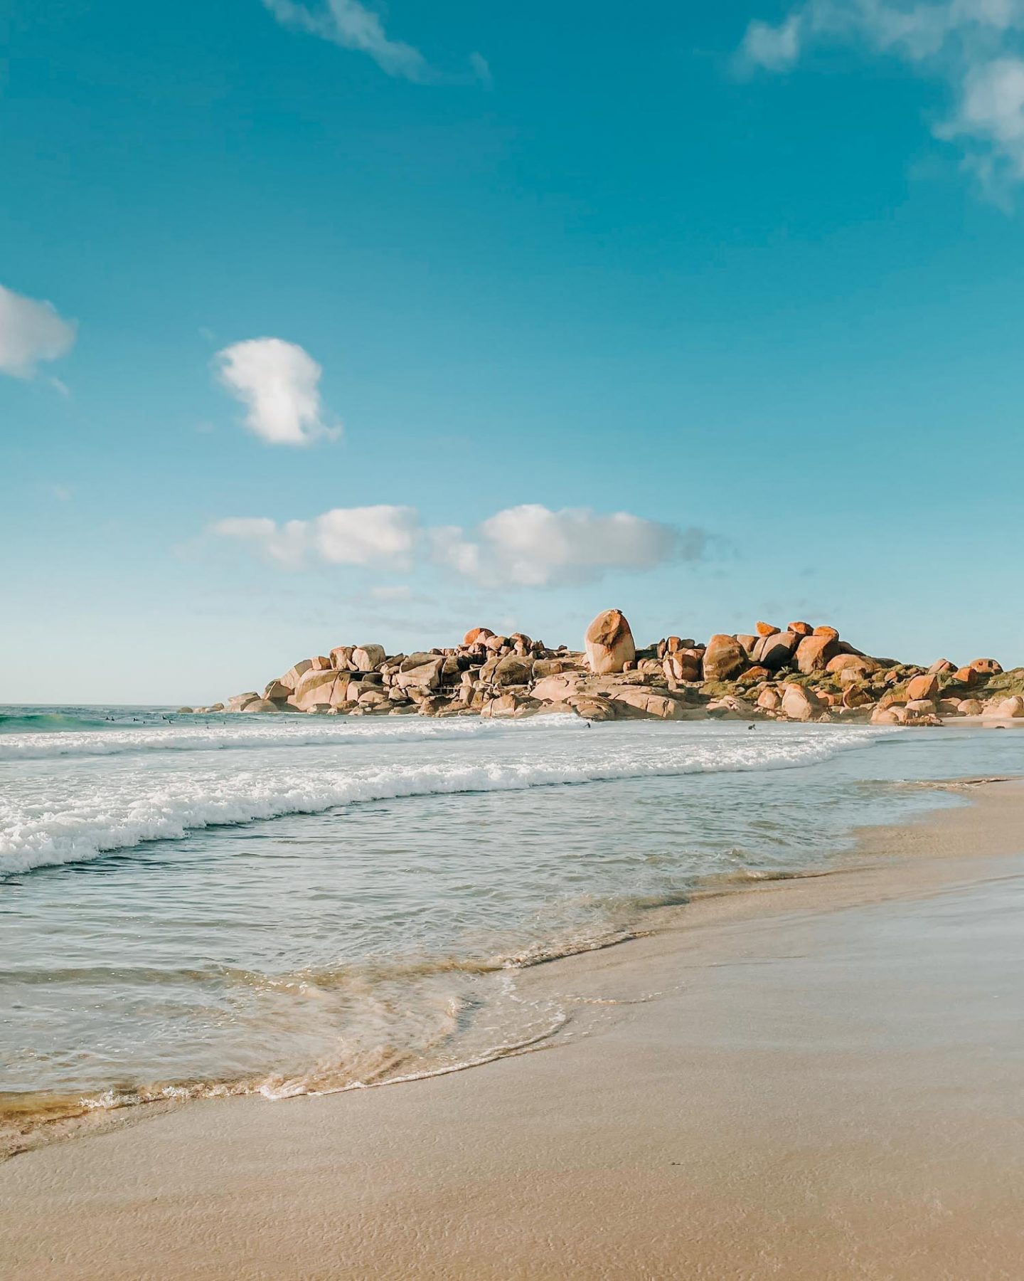
[[[264,556],[297,567],[310,557],[328,565],[408,569],[419,538],[415,507],[334,507],[312,520],[283,525],[265,516],[219,520],[210,532],[238,538]]]

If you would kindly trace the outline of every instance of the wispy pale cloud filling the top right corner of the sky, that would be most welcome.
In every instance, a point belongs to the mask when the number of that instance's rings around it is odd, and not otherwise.
[[[1005,201],[1024,181],[1024,0],[805,0],[781,23],[751,22],[739,63],[785,72],[838,42],[948,85],[951,111],[933,133],[961,146],[989,196]]]

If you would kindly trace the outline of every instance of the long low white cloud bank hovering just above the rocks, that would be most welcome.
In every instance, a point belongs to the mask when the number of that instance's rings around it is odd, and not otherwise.
[[[211,533],[242,539],[270,560],[298,566],[378,565],[408,570],[433,564],[485,587],[557,587],[594,582],[616,570],[643,573],[669,560],[698,560],[708,539],[620,511],[507,507],[466,534],[458,525],[424,526],[413,507],[335,507],[283,525],[264,518],[221,520]]]

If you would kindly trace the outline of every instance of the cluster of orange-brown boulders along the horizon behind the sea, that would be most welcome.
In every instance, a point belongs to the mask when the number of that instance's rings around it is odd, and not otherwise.
[[[314,712],[588,720],[790,720],[937,725],[942,717],[1024,717],[1024,669],[995,658],[931,667],[873,658],[831,626],[758,623],[707,644],[667,637],[637,649],[621,610],[599,614],[582,651],[552,649],[521,632],[472,628],[461,644],[385,653],[337,646],[303,658],[260,693],[183,712]]]

